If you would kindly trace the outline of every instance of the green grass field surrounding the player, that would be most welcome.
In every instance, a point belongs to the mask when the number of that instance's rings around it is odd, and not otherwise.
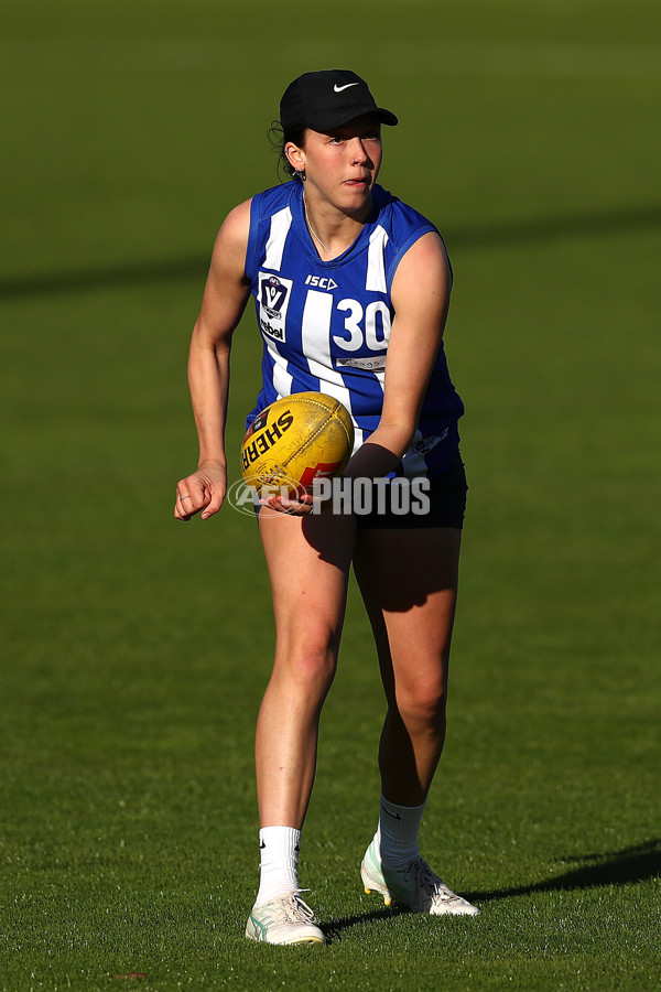
[[[660,29],[651,0],[6,4],[2,992],[659,988]],[[216,229],[275,182],[286,83],[335,65],[400,115],[381,181],[455,266],[470,505],[422,842],[483,913],[362,893],[382,700],[354,595],[302,851],[332,940],[270,948],[242,937],[259,539],[171,513]],[[237,452],[259,353],[247,317]]]

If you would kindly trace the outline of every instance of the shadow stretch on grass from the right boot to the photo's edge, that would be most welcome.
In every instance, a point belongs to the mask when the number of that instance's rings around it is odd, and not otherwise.
[[[491,892],[462,893],[476,903],[491,899],[505,899],[510,896],[533,895],[537,892],[571,891],[573,888],[598,888],[603,885],[626,885],[630,882],[647,882],[661,875],[661,840],[644,841],[633,848],[621,851],[607,851],[604,854],[583,854],[566,858],[568,862],[582,862],[581,867],[563,872],[543,882],[530,885],[517,885],[511,888]]]

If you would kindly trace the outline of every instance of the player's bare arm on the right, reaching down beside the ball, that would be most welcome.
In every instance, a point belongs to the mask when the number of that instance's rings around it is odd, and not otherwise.
[[[430,375],[441,346],[452,271],[443,241],[429,231],[400,261],[392,280],[394,319],[388,345],[383,410],[379,425],[356,452],[344,475],[387,475],[409,449]]]

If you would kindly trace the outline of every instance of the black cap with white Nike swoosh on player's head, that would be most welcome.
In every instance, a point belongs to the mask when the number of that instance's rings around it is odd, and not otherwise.
[[[280,100],[280,123],[284,130],[332,130],[364,114],[372,114],[381,123],[398,122],[390,110],[377,107],[365,79],[350,69],[303,73],[290,83]]]

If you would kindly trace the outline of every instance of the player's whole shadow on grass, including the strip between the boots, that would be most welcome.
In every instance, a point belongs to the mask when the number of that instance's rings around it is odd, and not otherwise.
[[[582,862],[581,867],[564,872],[543,882],[531,885],[517,885],[511,888],[499,888],[490,892],[462,892],[472,903],[488,903],[491,899],[505,899],[511,896],[533,895],[538,892],[560,892],[575,888],[597,888],[602,885],[626,885],[630,882],[646,882],[661,875],[661,840],[644,841],[621,851],[607,851],[603,854],[579,854],[566,858],[567,862]],[[328,944],[342,939],[343,930],[361,923],[393,919],[408,914],[404,906],[392,905],[390,908],[375,909],[371,913],[359,913],[342,919],[329,920],[324,925]]]

